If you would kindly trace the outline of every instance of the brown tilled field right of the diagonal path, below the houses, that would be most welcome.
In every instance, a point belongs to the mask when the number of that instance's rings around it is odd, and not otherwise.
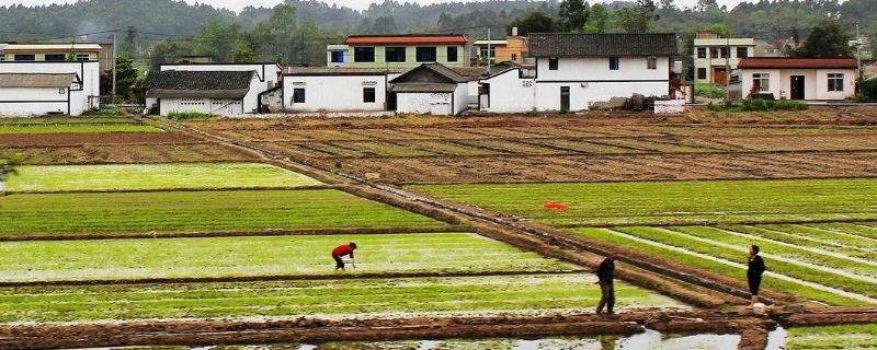
[[[388,184],[877,175],[877,108],[190,122]]]

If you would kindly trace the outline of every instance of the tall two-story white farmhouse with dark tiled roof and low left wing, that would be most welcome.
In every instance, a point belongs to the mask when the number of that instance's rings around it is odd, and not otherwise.
[[[528,45],[535,74],[511,68],[481,79],[481,110],[585,110],[612,97],[669,94],[674,34],[531,34]]]

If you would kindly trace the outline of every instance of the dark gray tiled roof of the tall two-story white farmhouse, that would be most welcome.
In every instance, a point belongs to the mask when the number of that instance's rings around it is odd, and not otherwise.
[[[571,56],[674,56],[676,35],[531,33],[529,55]]]

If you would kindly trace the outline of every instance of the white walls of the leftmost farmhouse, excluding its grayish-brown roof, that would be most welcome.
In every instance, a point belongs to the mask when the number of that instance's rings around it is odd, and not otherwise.
[[[82,80],[81,85],[75,84],[67,91],[69,94],[70,100],[70,110],[69,114],[72,116],[78,116],[84,113],[86,110],[98,108],[100,107],[100,95],[101,95],[101,71],[100,71],[100,63],[95,62],[0,62],[0,73],[52,73],[52,74],[61,74],[61,73],[75,73]],[[9,113],[15,112],[16,115],[41,115],[45,114],[46,109],[44,106],[39,106],[39,103],[32,104],[32,103],[22,103],[24,101],[59,101],[59,100],[67,100],[68,96],[59,96],[58,89],[45,90],[45,91],[18,91],[18,97],[13,100],[12,95],[0,94],[0,114],[5,114],[7,110]],[[25,94],[26,93],[26,94]],[[59,98],[62,97],[62,98]],[[5,102],[16,102],[16,103],[2,103]],[[21,106],[9,106],[9,105],[21,105]],[[31,107],[27,107],[31,105]],[[53,112],[55,108],[52,108]],[[61,110],[62,113],[67,113],[67,108]]]

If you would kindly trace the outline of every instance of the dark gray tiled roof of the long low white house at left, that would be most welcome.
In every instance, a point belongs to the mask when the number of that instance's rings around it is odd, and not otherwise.
[[[249,90],[254,74],[255,71],[166,70],[149,72],[144,89],[190,92]]]

